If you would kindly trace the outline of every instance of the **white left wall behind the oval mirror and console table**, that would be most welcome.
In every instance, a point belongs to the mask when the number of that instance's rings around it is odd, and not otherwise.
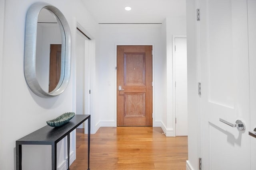
[[[40,98],[27,86],[24,78],[24,33],[26,12],[35,0],[0,1],[0,49],[3,45],[0,81],[0,169],[15,169],[15,141],[46,125],[46,121],[58,115],[75,110],[74,77],[71,76],[67,89],[53,98]],[[91,35],[97,37],[98,25],[88,14],[81,1],[45,0],[56,6],[70,25],[72,45],[76,34],[76,23],[79,22]],[[5,3],[5,6],[4,6]],[[4,10],[3,10],[4,6]],[[2,12],[4,11],[4,24]],[[2,37],[2,25],[4,36]],[[0,50],[2,51],[2,50]],[[74,66],[74,46],[72,47],[72,66]],[[73,69],[73,68],[72,68]],[[73,71],[73,70],[72,70]],[[64,146],[58,143],[58,166],[65,164]],[[23,166],[27,170],[50,169],[49,147],[23,147]],[[36,153],[35,153],[36,151]],[[34,162],[33,164],[30,164]],[[64,164],[62,164],[64,163]],[[28,167],[29,165],[29,167]]]

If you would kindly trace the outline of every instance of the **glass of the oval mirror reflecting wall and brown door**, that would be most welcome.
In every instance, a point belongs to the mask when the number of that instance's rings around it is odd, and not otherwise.
[[[42,9],[36,37],[36,77],[45,92],[52,92],[60,81],[62,35],[55,14]]]

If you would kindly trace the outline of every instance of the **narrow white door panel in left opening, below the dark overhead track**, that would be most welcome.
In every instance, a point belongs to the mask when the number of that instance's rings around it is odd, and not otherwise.
[[[89,39],[76,32],[76,114],[90,114]],[[86,121],[87,122],[87,121]],[[87,127],[87,126],[86,126]],[[84,128],[84,123],[78,128]]]

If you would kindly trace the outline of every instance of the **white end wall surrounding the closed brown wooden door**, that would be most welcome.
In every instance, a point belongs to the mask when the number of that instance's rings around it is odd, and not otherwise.
[[[166,113],[166,56],[161,24],[100,25],[99,55],[96,58],[96,126],[116,126],[116,45],[153,45],[153,124]]]

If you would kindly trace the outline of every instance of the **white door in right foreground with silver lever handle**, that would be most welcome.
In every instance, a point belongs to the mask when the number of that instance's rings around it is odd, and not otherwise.
[[[202,169],[253,170],[246,0],[198,1]],[[254,47],[255,48],[255,47]],[[246,129],[232,124],[244,122]],[[256,150],[254,150],[256,152]]]

